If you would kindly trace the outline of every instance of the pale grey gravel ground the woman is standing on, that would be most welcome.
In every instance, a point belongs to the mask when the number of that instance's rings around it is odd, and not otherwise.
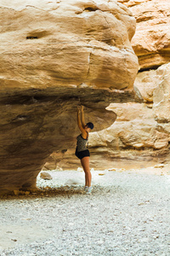
[[[151,170],[151,169],[150,169]],[[48,172],[42,190],[0,198],[0,255],[170,255],[170,173]],[[44,189],[45,188],[45,189]]]

